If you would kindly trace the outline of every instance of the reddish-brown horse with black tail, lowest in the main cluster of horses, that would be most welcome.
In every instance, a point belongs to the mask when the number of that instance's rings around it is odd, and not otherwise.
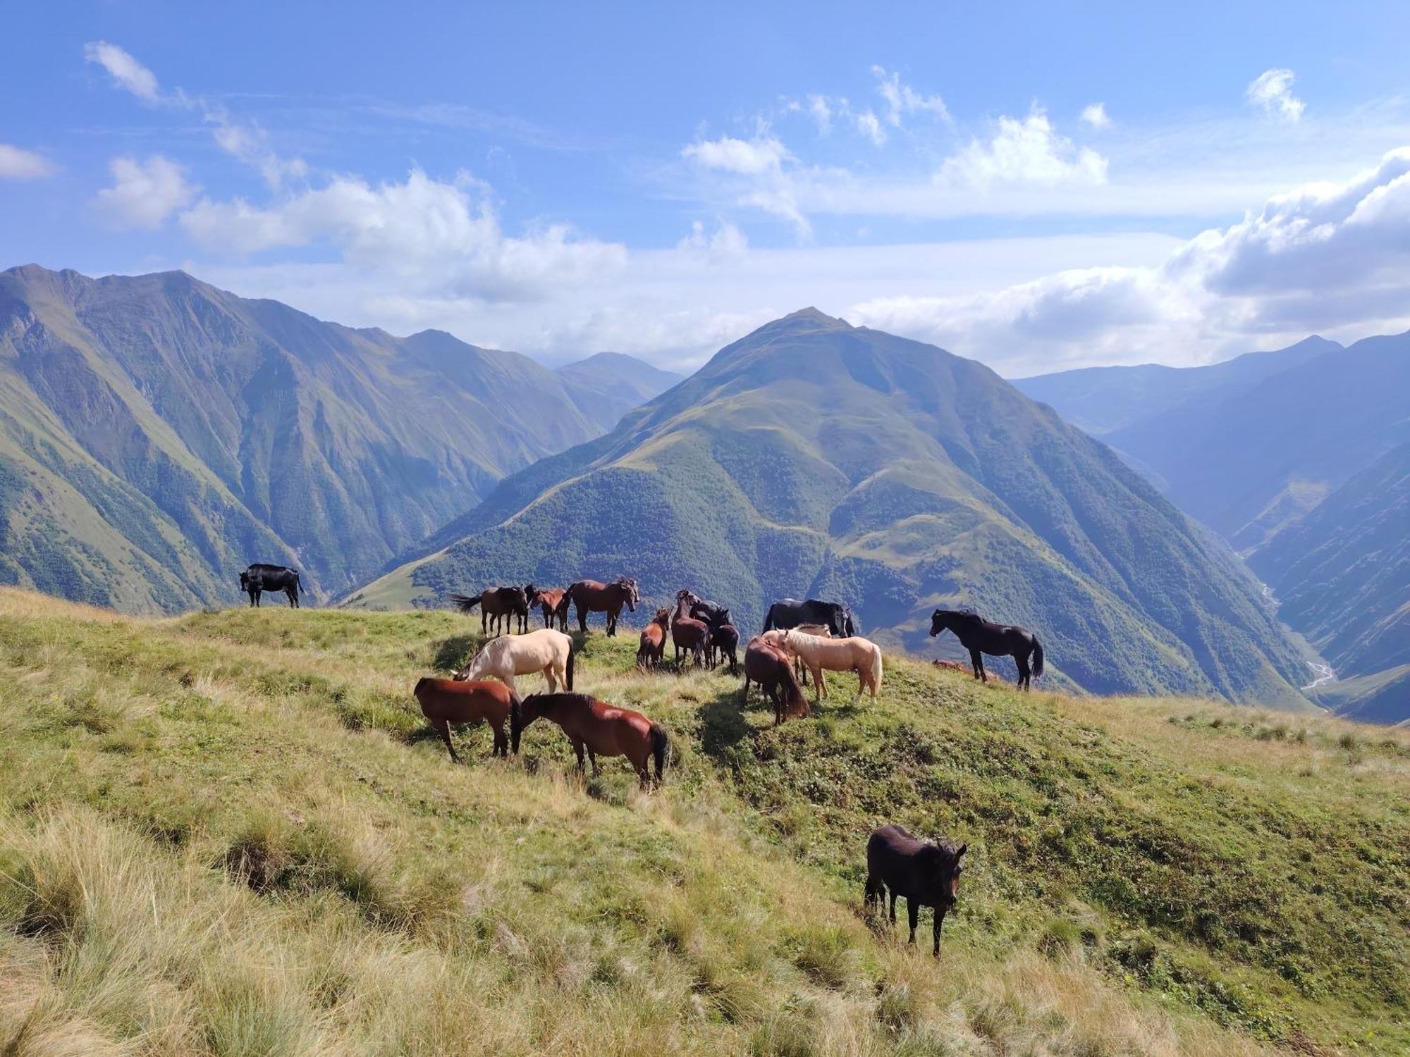
[[[646,786],[651,781],[647,762],[654,758],[656,784],[661,784],[668,750],[666,727],[640,712],[619,709],[587,693],[530,693],[509,710],[509,731],[516,754],[525,727],[540,716],[563,727],[572,743],[572,751],[578,754],[578,771],[585,769],[584,750],[592,762],[594,775],[599,774],[599,755],[625,755]]]

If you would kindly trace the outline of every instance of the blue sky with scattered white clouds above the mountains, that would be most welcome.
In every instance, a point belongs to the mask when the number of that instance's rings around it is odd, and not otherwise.
[[[1004,373],[1410,326],[1410,7],[24,4],[0,266],[689,368],[804,304]]]

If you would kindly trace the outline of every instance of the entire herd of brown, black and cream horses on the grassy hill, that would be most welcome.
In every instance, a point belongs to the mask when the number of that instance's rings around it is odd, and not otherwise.
[[[241,591],[250,595],[250,605],[259,605],[262,591],[283,591],[289,605],[299,606],[299,574],[279,565],[251,565],[240,574]],[[567,588],[519,586],[486,588],[479,595],[451,595],[451,603],[462,613],[478,606],[481,631],[494,636],[481,645],[468,664],[453,678],[423,678],[413,691],[422,713],[440,734],[458,761],[451,740],[453,724],[489,726],[494,737],[492,755],[517,755],[523,731],[544,719],[563,730],[577,755],[577,768],[584,772],[591,764],[599,772],[598,757],[626,757],[643,788],[664,779],[670,760],[670,737],[666,729],[633,709],[625,709],[588,693],[574,691],[574,657],[577,645],[567,634],[570,609],[577,609],[578,630],[588,631],[591,613],[606,614],[606,634],[615,636],[622,609],[636,612],[642,600],[637,582],[619,576],[611,583],[584,579]],[[543,627],[529,630],[529,612],[539,609]],[[984,654],[1011,655],[1018,668],[1018,686],[1031,688],[1032,676],[1043,674],[1043,648],[1038,638],[1022,627],[1011,627],[983,620],[966,610],[936,609],[931,616],[931,636],[952,631],[970,654],[976,679],[987,679]],[[715,668],[729,665],[730,675],[743,667],[744,700],[752,684],[774,706],[774,723],[802,719],[811,715],[804,686],[812,678],[816,699],[828,696],[826,672],[854,672],[857,696],[881,691],[883,658],[880,647],[859,636],[852,612],[836,602],[818,599],[783,599],[768,607],[764,627],[744,644],[743,664],[739,661],[739,629],[728,607],[702,599],[682,588],[675,595],[674,609],[664,606],[642,629],[637,647],[637,667],[643,671],[661,668],[667,641],[674,647],[675,667],[691,662]],[[547,692],[520,696],[516,676],[541,674]],[[867,874],[864,906],[881,908],[890,896],[890,920],[895,925],[895,901],[907,901],[911,936],[919,908],[929,906],[935,915],[933,954],[940,953],[940,925],[953,909],[959,895],[960,860],[966,844],[949,840],[921,840],[901,826],[881,826],[867,840]]]

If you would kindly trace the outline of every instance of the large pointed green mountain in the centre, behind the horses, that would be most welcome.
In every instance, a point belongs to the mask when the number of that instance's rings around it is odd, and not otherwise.
[[[980,364],[815,310],[407,557],[352,600],[632,572],[651,602],[689,585],[746,630],[774,598],[836,598],[912,650],[931,609],[967,603],[1032,627],[1069,685],[1307,706],[1252,578],[1111,450]]]

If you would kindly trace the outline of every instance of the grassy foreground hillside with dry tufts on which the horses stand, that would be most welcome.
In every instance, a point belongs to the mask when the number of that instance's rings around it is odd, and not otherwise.
[[[581,686],[451,765],[409,699],[478,623],[172,620],[0,591],[0,1047],[93,1053],[1400,1053],[1410,740],[888,665],[774,730],[723,674]],[[970,844],[942,961],[859,916],[867,830]]]

